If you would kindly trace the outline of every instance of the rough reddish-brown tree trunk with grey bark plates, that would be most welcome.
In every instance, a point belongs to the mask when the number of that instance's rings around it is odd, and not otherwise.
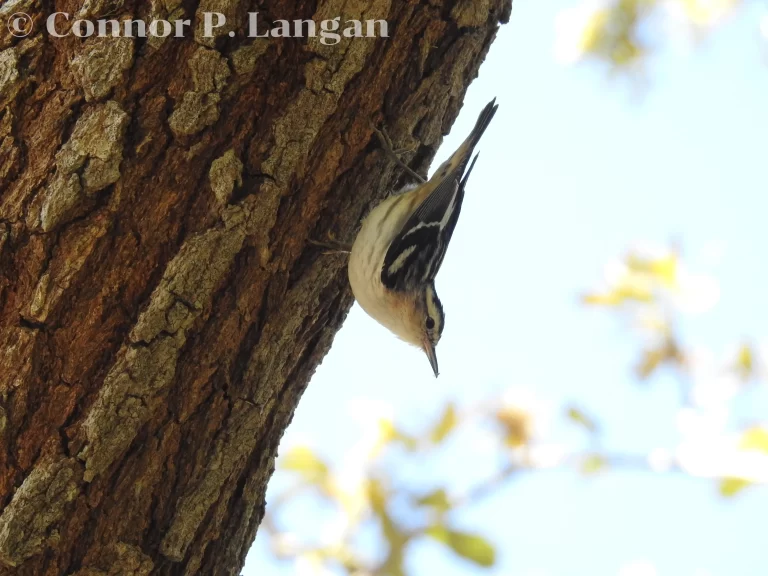
[[[385,18],[390,38],[247,38],[249,10]],[[54,11],[193,24],[53,38]],[[228,16],[214,38],[202,11]],[[344,259],[307,239],[351,238],[397,183],[372,123],[429,164],[510,11],[5,0],[1,573],[238,573],[280,438],[352,303]],[[5,29],[15,12],[33,17],[26,38]]]

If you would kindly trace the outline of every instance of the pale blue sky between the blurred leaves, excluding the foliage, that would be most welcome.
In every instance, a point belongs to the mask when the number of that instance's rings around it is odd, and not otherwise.
[[[678,239],[690,268],[720,280],[716,308],[685,318],[686,344],[723,355],[747,336],[765,342],[768,66],[760,6],[690,51],[661,50],[637,98],[631,83],[606,78],[599,66],[555,62],[555,16],[572,5],[515,2],[433,163],[495,96],[499,111],[437,280],[446,310],[439,379],[423,353],[355,306],[281,453],[308,443],[338,462],[360,434],[356,398],[390,404],[399,422],[416,428],[446,399],[467,404],[510,387],[553,406],[578,401],[616,450],[674,447],[672,379],[639,385],[631,370],[639,338],[615,315],[578,301],[605,264],[638,241]],[[735,409],[765,421],[764,388]],[[415,483],[449,477],[462,485],[471,480],[468,462],[487,463],[481,452],[473,455],[471,441],[457,444],[408,474]],[[280,487],[276,477],[268,506]],[[408,565],[416,575],[615,576],[627,562],[647,560],[658,576],[757,576],[768,574],[766,518],[765,488],[723,500],[706,479],[542,472],[459,518],[496,544],[495,569],[480,571],[430,545],[415,548]],[[293,571],[257,537],[243,574]]]

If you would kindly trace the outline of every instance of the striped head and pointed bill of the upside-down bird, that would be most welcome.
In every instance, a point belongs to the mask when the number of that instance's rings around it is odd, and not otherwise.
[[[412,293],[406,306],[406,317],[400,337],[418,346],[429,358],[429,364],[437,378],[437,353],[435,347],[440,341],[445,325],[445,314],[434,284]]]

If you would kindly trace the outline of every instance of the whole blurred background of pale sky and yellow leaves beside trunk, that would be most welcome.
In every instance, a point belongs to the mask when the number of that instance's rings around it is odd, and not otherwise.
[[[356,305],[243,574],[768,574],[768,2],[516,0],[433,166],[494,96],[440,377]]]

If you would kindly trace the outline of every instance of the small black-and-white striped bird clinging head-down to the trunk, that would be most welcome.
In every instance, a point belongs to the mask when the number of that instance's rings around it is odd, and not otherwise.
[[[439,374],[435,348],[445,327],[435,277],[478,155],[469,160],[497,108],[494,98],[480,112],[469,136],[429,180],[419,177],[421,183],[376,205],[363,220],[349,254],[347,272],[357,302],[401,340],[421,348],[435,377]],[[391,146],[387,151],[400,163]]]

